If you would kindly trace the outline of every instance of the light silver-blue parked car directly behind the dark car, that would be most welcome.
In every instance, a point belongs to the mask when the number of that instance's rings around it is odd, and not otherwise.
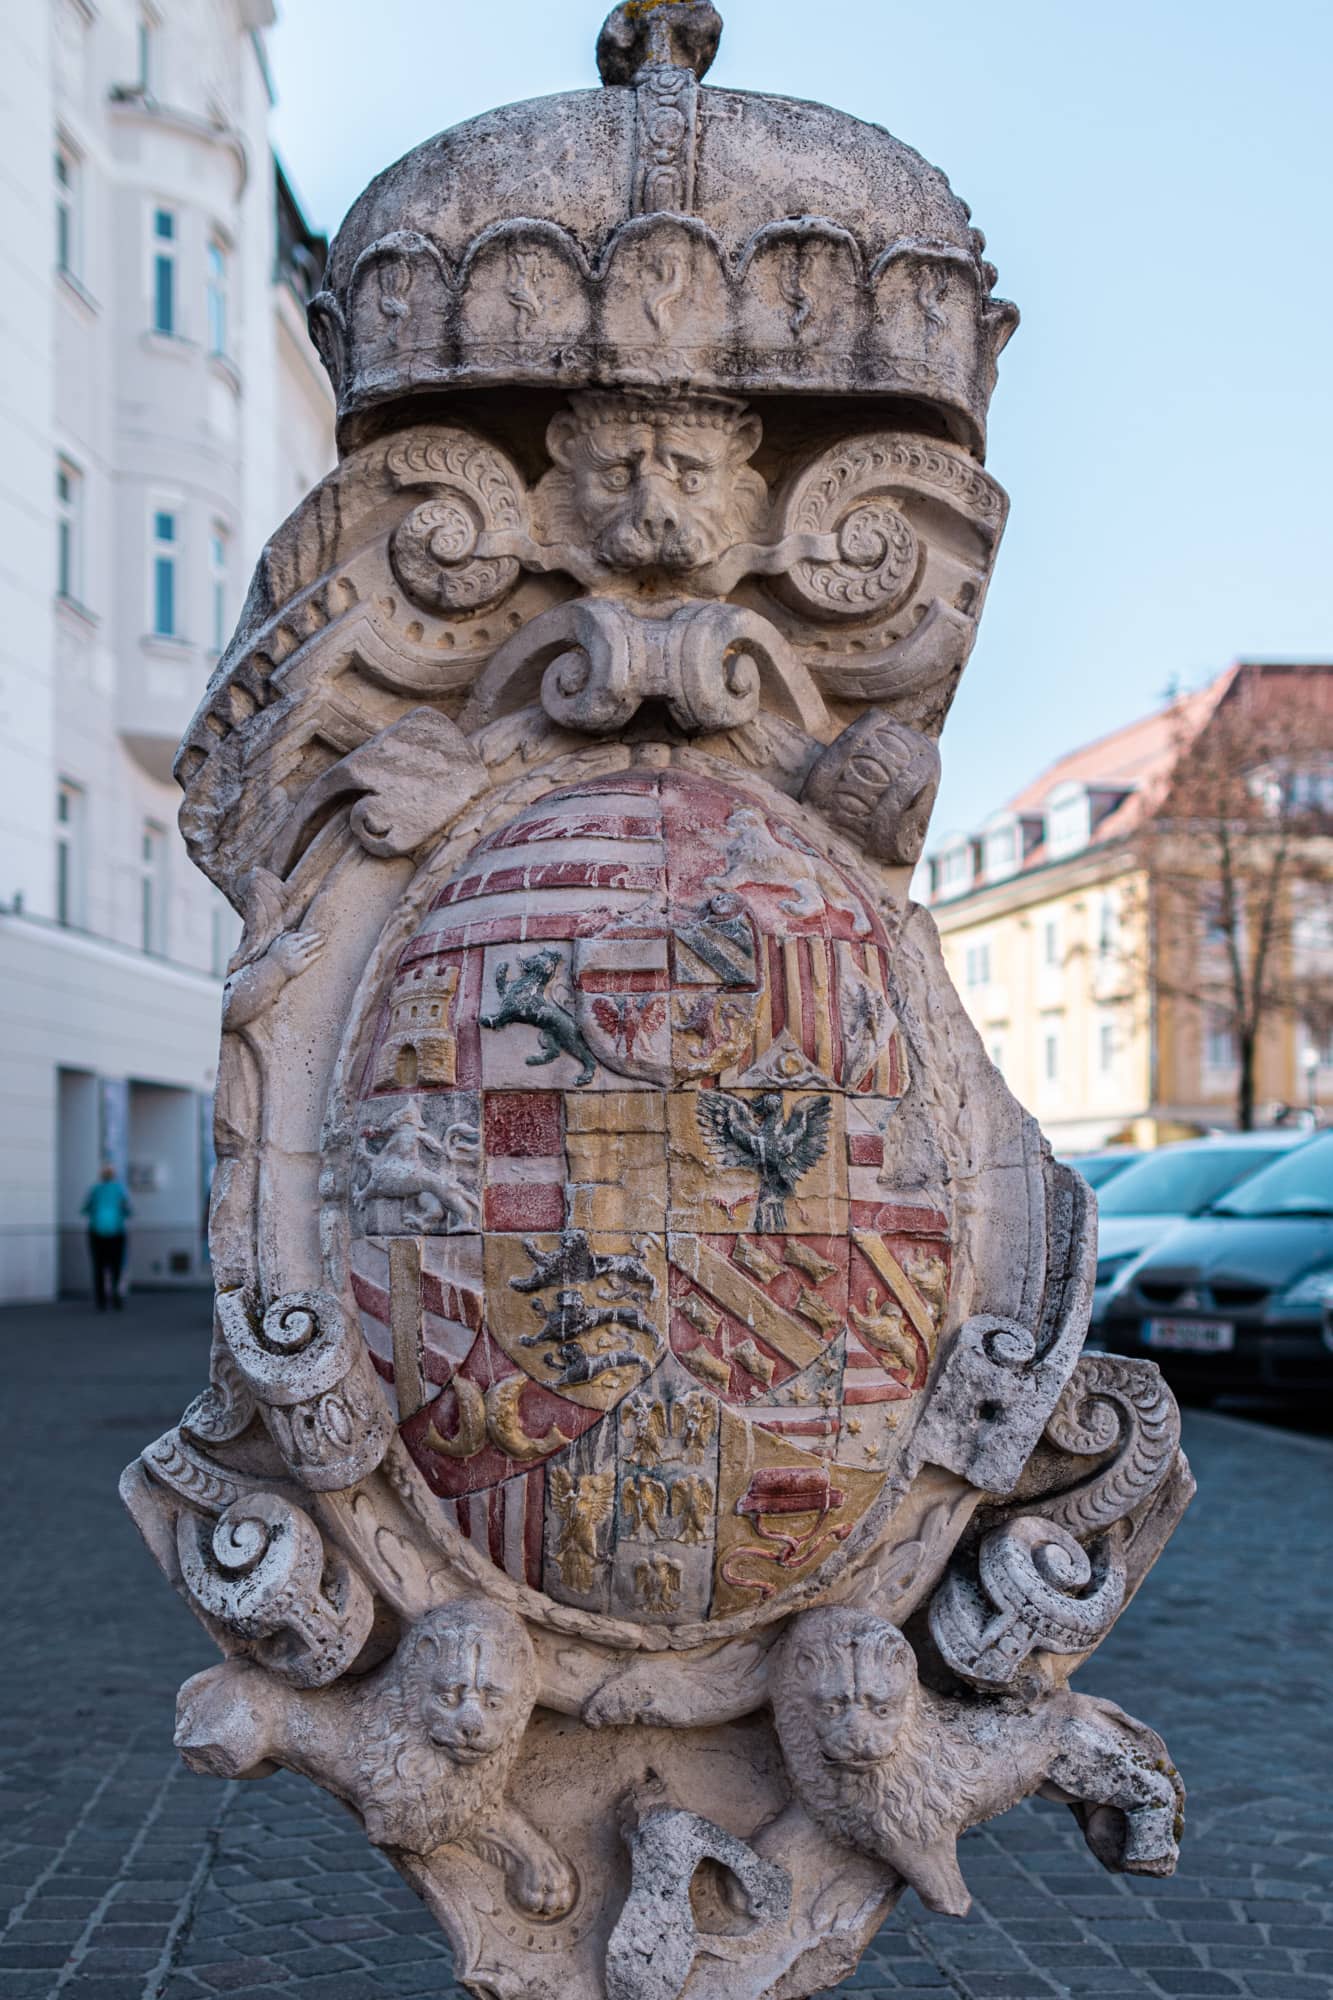
[[[1309,1132],[1233,1132],[1191,1138],[1161,1152],[1139,1154],[1097,1196],[1097,1286],[1093,1326],[1101,1326],[1107,1294],[1137,1256],[1161,1242],[1177,1222],[1201,1216],[1271,1160],[1305,1144]]]

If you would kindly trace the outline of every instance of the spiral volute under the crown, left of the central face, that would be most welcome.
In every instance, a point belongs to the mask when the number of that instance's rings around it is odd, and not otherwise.
[[[430,486],[394,528],[388,560],[414,604],[468,614],[498,604],[518,582],[514,554],[488,552],[486,536],[526,534],[526,490],[492,444],[466,430],[406,438],[388,454],[402,486]]]

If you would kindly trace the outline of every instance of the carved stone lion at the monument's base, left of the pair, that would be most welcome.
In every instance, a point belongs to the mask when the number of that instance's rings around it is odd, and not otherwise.
[[[504,1800],[534,1700],[522,1622],[460,1602],[426,1612],[374,1674],[326,1692],[248,1660],[196,1674],[180,1690],[176,1748],[218,1778],[304,1772],[356,1808],[376,1846],[466,1846],[504,1870],[520,1908],[560,1916],[572,1870]]]

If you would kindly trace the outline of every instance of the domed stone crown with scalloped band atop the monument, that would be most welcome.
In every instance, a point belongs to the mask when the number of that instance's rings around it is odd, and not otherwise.
[[[602,90],[470,118],[380,174],[310,332],[358,418],[450,388],[602,384],[933,406],[985,446],[1017,310],[939,168],[823,104],[703,88],[707,0],[628,0]]]

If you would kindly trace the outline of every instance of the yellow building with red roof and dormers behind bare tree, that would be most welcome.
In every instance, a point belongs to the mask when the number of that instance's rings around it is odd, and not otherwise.
[[[1235,1032],[1191,996],[1195,982],[1203,992],[1225,970],[1215,962],[1223,940],[1203,924],[1187,944],[1155,876],[1181,756],[1217,728],[1223,704],[1255,700],[1265,716],[1289,704],[1297,738],[1319,724],[1301,782],[1333,826],[1333,666],[1237,666],[1061,758],[983,828],[945,838],[929,856],[949,972],[991,1060],[1057,1150],[1157,1144],[1237,1122]],[[1189,838],[1181,846],[1189,852]],[[1301,972],[1311,1018],[1291,1008],[1265,1016],[1259,1124],[1279,1104],[1333,1112],[1333,876],[1329,842],[1317,846],[1317,880],[1291,870],[1279,920],[1283,966]]]

